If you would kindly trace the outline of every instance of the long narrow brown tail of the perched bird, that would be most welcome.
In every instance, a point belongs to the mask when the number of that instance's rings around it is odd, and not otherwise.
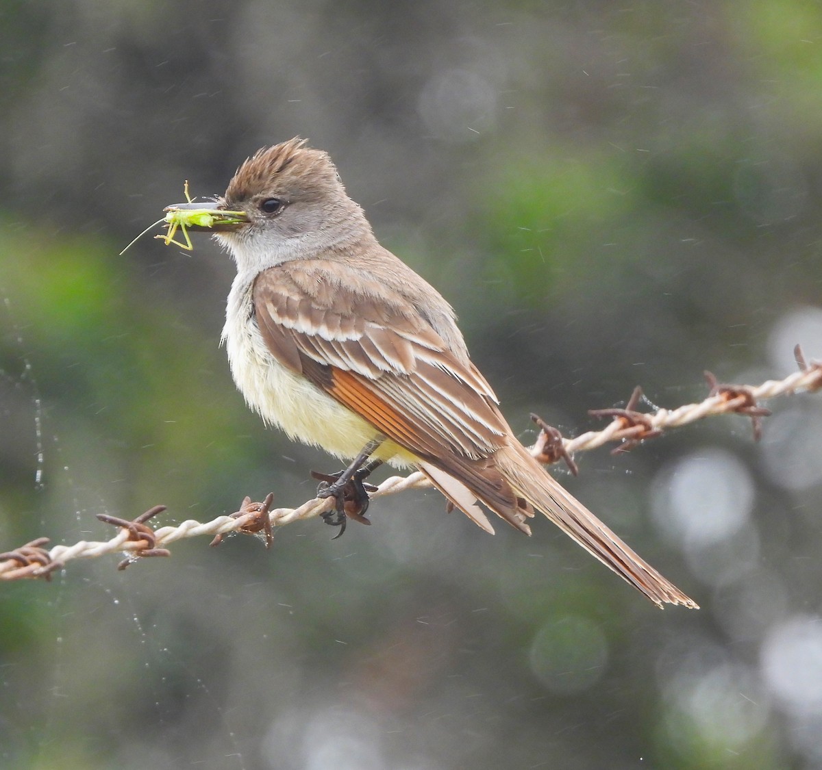
[[[633,552],[579,500],[552,479],[518,441],[511,441],[494,455],[496,467],[515,493],[542,511],[563,532],[639,589],[658,607],[663,603],[698,605]],[[480,496],[481,499],[482,496]],[[488,505],[488,502],[483,499]],[[494,510],[493,506],[490,506]],[[495,511],[499,512],[499,511]]]

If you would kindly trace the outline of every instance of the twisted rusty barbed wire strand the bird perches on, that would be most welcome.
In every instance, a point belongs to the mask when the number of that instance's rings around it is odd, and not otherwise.
[[[726,414],[750,417],[754,438],[759,438],[761,419],[770,414],[769,410],[759,406],[759,401],[798,392],[815,392],[822,388],[822,362],[806,361],[798,345],[794,348],[794,355],[799,366],[798,372],[782,380],[768,380],[757,386],[720,384],[713,374],[705,372],[710,387],[709,396],[704,401],[686,404],[674,410],[658,408],[653,412],[637,411],[642,396],[641,389],[637,387],[624,408],[590,410],[590,415],[611,417],[612,421],[603,430],[589,431],[576,438],[564,438],[556,428],[547,425],[538,415],[531,415],[540,432],[529,451],[546,465],[560,460],[565,461],[571,472],[576,474],[577,467],[573,460],[576,452],[589,451],[607,443],[617,443],[616,449],[613,450],[615,452],[629,451],[641,442],[661,436],[667,429],[680,428],[712,415]],[[368,497],[376,500],[407,489],[431,486],[428,479],[419,472],[408,476],[391,476],[376,488],[371,488]],[[118,569],[125,569],[140,558],[170,556],[168,546],[171,543],[201,535],[211,535],[214,538],[211,545],[215,546],[219,545],[226,534],[255,534],[264,539],[268,548],[273,539],[274,527],[321,516],[335,507],[333,497],[315,497],[298,508],[272,508],[273,500],[273,493],[263,502],[252,502],[250,497],[246,497],[240,510],[230,516],[218,516],[205,523],[186,520],[179,525],[159,529],[151,529],[147,522],[165,511],[165,506],[154,506],[133,520],[99,514],[99,520],[118,527],[118,534],[112,539],[81,540],[70,546],[56,545],[52,548],[46,548],[48,538],[32,540],[12,551],[0,553],[0,580],[39,577],[49,580],[52,573],[61,570],[68,561],[90,559],[116,552],[123,552],[126,555],[118,565]]]

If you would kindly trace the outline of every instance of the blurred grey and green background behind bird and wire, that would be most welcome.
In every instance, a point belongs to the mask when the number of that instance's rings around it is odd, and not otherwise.
[[[0,551],[337,470],[235,391],[215,244],[118,256],[293,135],[455,305],[524,442],[530,411],[581,433],[636,384],[676,407],[822,357],[820,46],[802,0],[4,3]],[[0,764],[822,767],[822,396],[769,406],[758,444],[729,416],[555,470],[698,612],[433,492],[334,542],[0,584]]]

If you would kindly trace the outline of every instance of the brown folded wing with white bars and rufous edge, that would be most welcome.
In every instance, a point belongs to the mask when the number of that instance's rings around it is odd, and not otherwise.
[[[483,375],[407,297],[374,282],[364,296],[352,284],[368,277],[351,270],[314,259],[256,278],[254,311],[271,354],[529,531],[529,506],[492,460],[510,429]]]

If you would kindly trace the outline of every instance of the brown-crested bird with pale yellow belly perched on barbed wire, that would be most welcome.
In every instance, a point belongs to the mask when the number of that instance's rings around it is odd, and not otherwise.
[[[334,523],[352,483],[364,510],[377,462],[410,466],[487,532],[478,502],[525,534],[541,511],[659,607],[696,607],[515,438],[454,310],[376,241],[328,154],[298,138],[261,149],[210,205],[230,213],[207,229],[237,264],[223,330],[234,381],[290,438],[353,458],[322,488]]]

